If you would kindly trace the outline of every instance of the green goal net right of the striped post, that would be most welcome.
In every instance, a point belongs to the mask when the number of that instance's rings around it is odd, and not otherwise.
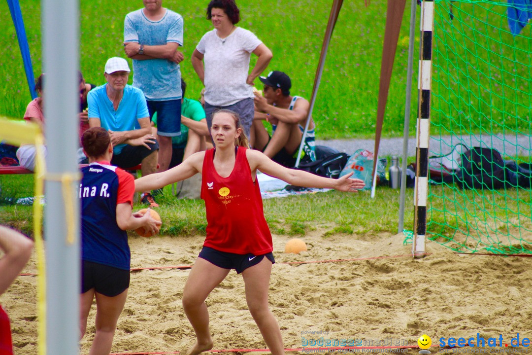
[[[532,253],[532,21],[514,36],[509,21],[519,28],[524,23],[512,22],[515,15],[527,13],[509,3],[436,1],[434,7],[429,155],[459,144],[485,147],[500,152],[504,166],[495,166],[498,175],[477,167],[474,188],[460,178],[464,169],[458,179],[430,174],[438,183],[429,184],[427,236],[460,252]],[[483,158],[484,167],[493,161]]]

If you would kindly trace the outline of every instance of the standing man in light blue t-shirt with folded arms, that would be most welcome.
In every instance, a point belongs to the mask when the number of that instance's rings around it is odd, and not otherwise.
[[[177,48],[183,45],[183,18],[162,7],[161,0],[144,5],[126,15],[124,51],[133,59],[133,86],[146,96],[149,117],[157,112],[159,171],[164,171],[172,156],[172,137],[181,133],[179,63],[184,56]]]

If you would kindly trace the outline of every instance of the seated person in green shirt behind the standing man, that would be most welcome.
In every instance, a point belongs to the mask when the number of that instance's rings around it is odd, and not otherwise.
[[[185,97],[187,84],[181,79],[181,135],[172,137],[172,159],[169,168],[180,164],[188,156],[205,150],[205,137],[209,137],[207,120],[202,104]],[[157,127],[157,114],[152,117],[152,126]]]

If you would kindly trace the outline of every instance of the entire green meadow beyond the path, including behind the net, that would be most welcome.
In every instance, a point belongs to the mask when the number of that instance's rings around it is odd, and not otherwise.
[[[409,2],[406,5],[395,56],[392,84],[384,121],[385,137],[402,136],[408,60]],[[205,19],[207,2],[165,0],[164,6],[185,19],[185,61],[181,71],[188,82],[188,96],[202,88],[190,64],[190,55],[201,36],[212,29]],[[287,72],[294,94],[310,98],[319,53],[330,12],[330,1],[279,0],[273,3],[240,0],[239,26],[253,31],[272,49],[270,70]],[[513,37],[508,32],[506,4],[436,2],[434,49],[434,96],[431,131],[506,133],[530,132],[530,37],[532,27]],[[124,15],[142,2],[81,2],[80,69],[88,82],[104,82],[103,66],[111,56],[125,56],[122,48]],[[41,71],[40,1],[21,2],[36,76]],[[414,46],[414,82],[410,134],[415,134],[417,115],[417,60],[419,55],[419,7]],[[9,9],[0,2],[0,14]],[[373,0],[368,7],[344,2],[332,36],[313,118],[317,136],[371,138],[375,134],[386,1]],[[486,21],[486,24],[484,24]],[[10,20],[0,23],[4,48],[0,77],[0,115],[21,118],[30,101],[22,59]],[[253,56],[254,57],[254,56]],[[252,59],[253,61],[253,59]],[[252,65],[254,62],[252,62]],[[257,80],[256,84],[260,82]],[[489,128],[481,126],[488,119]]]

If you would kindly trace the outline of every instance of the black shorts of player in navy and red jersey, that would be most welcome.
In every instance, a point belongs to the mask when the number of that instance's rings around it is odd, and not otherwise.
[[[91,288],[107,297],[118,296],[129,287],[129,270],[96,262],[81,262],[81,293]]]

